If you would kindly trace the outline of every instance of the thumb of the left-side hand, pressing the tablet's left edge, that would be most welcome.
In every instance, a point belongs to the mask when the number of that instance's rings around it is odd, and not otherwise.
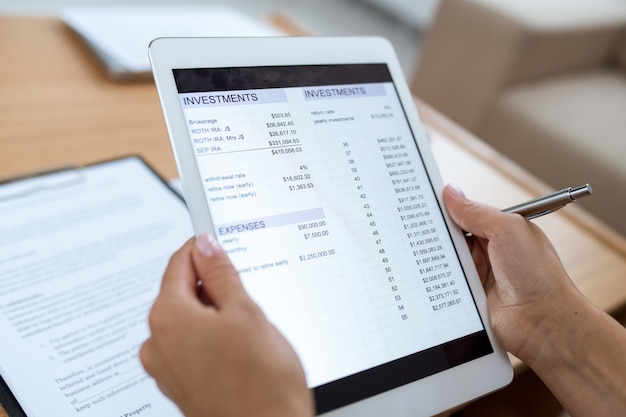
[[[233,300],[248,297],[237,270],[215,237],[197,236],[191,258],[204,295],[218,310]]]

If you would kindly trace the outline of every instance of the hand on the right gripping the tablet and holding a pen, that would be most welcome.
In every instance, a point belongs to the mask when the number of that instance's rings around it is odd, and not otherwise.
[[[528,364],[540,358],[546,335],[585,303],[545,234],[519,214],[444,189],[453,220],[468,244],[487,293],[490,321],[501,344]],[[539,355],[539,356],[538,356]]]

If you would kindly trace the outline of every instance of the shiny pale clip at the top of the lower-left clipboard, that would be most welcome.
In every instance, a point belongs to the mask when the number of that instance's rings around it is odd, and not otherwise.
[[[80,165],[65,165],[0,181],[0,203],[48,190],[72,187],[85,180]]]

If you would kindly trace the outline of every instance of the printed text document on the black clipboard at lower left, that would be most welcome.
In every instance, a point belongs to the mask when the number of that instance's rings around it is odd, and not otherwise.
[[[192,235],[139,158],[0,184],[0,375],[26,416],[181,415],[138,350]]]

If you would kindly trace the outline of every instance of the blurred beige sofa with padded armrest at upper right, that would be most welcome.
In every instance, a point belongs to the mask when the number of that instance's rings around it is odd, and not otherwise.
[[[626,235],[626,0],[443,0],[411,87]]]

